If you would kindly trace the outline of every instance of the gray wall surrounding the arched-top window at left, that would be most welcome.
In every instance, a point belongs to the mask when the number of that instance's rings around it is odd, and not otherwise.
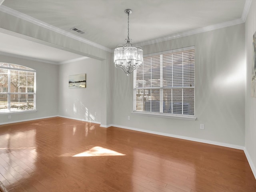
[[[56,116],[58,114],[58,65],[0,55],[0,62],[36,70],[35,112],[0,114],[0,124]],[[11,115],[11,119],[8,119]]]

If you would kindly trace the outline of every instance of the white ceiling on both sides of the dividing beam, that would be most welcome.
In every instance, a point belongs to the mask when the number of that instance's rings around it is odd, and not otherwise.
[[[135,45],[150,44],[190,32],[202,32],[242,23],[250,0],[4,0],[0,8],[32,17],[112,50],[125,44],[127,14],[130,38]],[[247,6],[247,7],[246,7]],[[1,11],[1,9],[0,9]],[[77,27],[86,34],[70,28]],[[82,56],[0,33],[0,52],[56,63]],[[22,50],[20,49],[20,45]],[[25,46],[24,46],[25,45]],[[53,54],[54,53],[54,54]]]

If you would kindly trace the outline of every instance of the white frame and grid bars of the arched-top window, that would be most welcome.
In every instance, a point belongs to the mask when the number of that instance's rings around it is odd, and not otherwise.
[[[32,68],[28,68],[26,66],[22,66],[22,65],[18,65],[18,64],[12,64],[12,63],[6,63],[6,62],[0,62],[0,64],[7,64],[7,67],[6,66],[0,66],[0,69],[5,69],[5,70],[8,70],[8,80],[7,80],[7,92],[5,93],[0,93],[0,94],[6,94],[7,96],[7,109],[6,111],[3,111],[3,112],[0,112],[0,115],[4,115],[4,114],[13,114],[13,113],[26,113],[26,112],[34,112],[36,111],[36,70],[32,69]],[[16,66],[16,67],[15,67]],[[33,72],[34,75],[34,82],[33,82],[33,88],[34,88],[34,92],[20,92],[19,90],[20,89],[26,89],[28,90],[28,88],[31,89],[31,87],[28,87],[28,82],[26,80],[26,86],[18,86],[18,92],[11,92],[11,71],[19,71],[19,72]],[[20,74],[19,74],[20,76]],[[26,73],[26,78],[28,79],[28,73]],[[28,97],[30,95],[33,95],[33,109],[26,109],[26,110],[11,110],[11,103],[13,102],[11,100],[11,95],[12,94],[16,94],[18,95],[19,99],[20,99],[20,96],[21,95],[26,95],[26,102],[28,104]],[[20,101],[19,101],[20,102]]]

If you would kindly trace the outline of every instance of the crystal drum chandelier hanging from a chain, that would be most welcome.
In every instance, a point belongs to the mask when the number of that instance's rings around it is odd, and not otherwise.
[[[132,39],[129,37],[129,15],[132,10],[124,11],[128,14],[128,38],[125,39],[125,45],[118,45],[114,51],[114,63],[116,68],[120,68],[129,76],[136,68],[143,64],[143,50],[141,47],[133,46]]]

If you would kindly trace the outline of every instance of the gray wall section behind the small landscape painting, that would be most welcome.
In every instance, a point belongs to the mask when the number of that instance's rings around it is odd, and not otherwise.
[[[68,76],[86,74],[86,88],[68,88]],[[101,122],[101,62],[88,58],[59,66],[58,115]],[[95,114],[96,113],[96,114]]]

